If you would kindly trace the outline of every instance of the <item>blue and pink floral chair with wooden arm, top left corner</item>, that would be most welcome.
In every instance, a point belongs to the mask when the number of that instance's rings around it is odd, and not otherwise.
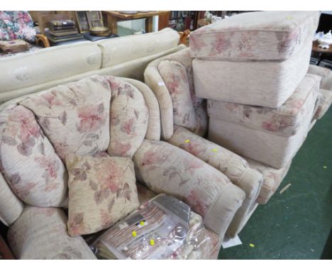
[[[35,33],[28,11],[0,11],[0,40],[26,40],[43,47],[50,47],[45,35]]]

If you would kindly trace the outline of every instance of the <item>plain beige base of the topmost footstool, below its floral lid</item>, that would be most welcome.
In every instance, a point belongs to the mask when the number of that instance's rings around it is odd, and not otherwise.
[[[311,42],[284,61],[194,59],[195,92],[205,99],[277,108],[304,78],[310,54]]]

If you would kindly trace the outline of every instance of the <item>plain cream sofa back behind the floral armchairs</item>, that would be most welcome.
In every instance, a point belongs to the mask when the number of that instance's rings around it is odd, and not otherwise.
[[[170,28],[98,43],[90,41],[0,58],[0,103],[94,74],[143,81],[149,62],[186,48]],[[113,48],[113,49],[112,49]],[[115,49],[114,49],[115,48]],[[107,54],[109,62],[104,64]]]

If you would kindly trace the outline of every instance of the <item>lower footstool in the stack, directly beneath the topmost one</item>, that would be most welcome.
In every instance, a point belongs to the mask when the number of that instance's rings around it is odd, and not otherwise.
[[[271,167],[285,167],[308,132],[320,79],[306,74],[280,109],[210,102],[209,140]]]

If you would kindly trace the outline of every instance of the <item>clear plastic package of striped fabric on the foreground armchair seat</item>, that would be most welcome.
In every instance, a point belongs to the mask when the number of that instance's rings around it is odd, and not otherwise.
[[[165,194],[140,206],[92,244],[102,259],[207,259],[218,248],[218,236],[204,228],[201,216]]]

